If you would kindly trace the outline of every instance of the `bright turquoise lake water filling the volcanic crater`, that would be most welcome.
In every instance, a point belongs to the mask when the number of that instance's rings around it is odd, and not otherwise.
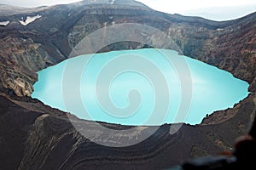
[[[32,98],[85,120],[198,124],[233,107],[249,84],[166,49],[82,55],[38,72]]]

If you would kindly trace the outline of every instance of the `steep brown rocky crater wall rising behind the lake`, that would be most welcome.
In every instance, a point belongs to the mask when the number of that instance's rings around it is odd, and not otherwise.
[[[21,26],[17,22],[23,15],[25,18],[28,15],[34,16],[38,14],[42,15],[42,17],[27,26]],[[37,46],[37,48],[34,47],[34,52],[31,49],[27,49],[29,51],[25,50],[22,55],[33,53],[30,56],[37,56],[32,57],[32,59],[39,58],[40,64],[33,65],[32,69],[38,71],[67,59],[72,48],[81,39],[104,26],[120,23],[139,23],[146,26],[154,26],[172,37],[174,42],[181,48],[183,54],[230,71],[234,76],[249,83],[252,82],[250,89],[255,90],[253,88],[255,87],[255,67],[253,65],[256,60],[254,48],[255,15],[254,13],[235,21],[214,22],[201,18],[162,14],[140,6],[130,8],[130,6],[114,4],[96,4],[93,6],[59,5],[40,13],[9,16],[5,20],[11,20],[11,22],[9,26],[0,27],[0,36],[3,40],[3,47],[8,49],[15,48],[13,51],[17,50],[17,47],[10,45],[12,44],[11,42],[4,42],[14,41],[13,43],[23,42],[23,44],[31,42],[34,46]],[[14,38],[16,39],[14,40]],[[154,43],[159,42],[157,37],[148,38]],[[143,44],[137,42],[119,42],[103,50],[142,47]],[[20,45],[20,48],[24,50],[22,45]],[[6,58],[6,55],[10,55],[5,54],[7,53],[6,50],[1,52],[1,57],[4,56]],[[21,55],[21,52],[19,52],[19,55]],[[15,57],[12,54],[9,58]],[[27,57],[25,56],[25,58]],[[19,65],[24,65],[23,67],[27,69],[26,63],[20,63]],[[21,72],[26,73],[27,71]],[[36,80],[36,77],[27,79]],[[26,80],[26,82],[32,84],[29,80]],[[5,85],[4,87],[9,88],[10,85]],[[28,88],[31,88],[31,86]],[[32,92],[31,89],[23,91]],[[29,95],[29,93],[24,92],[16,94]]]

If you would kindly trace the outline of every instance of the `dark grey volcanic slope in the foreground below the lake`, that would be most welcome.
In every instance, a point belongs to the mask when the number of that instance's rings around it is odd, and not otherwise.
[[[164,169],[189,157],[216,156],[222,150],[232,150],[234,139],[248,132],[256,113],[253,94],[227,111],[224,116],[230,118],[222,122],[211,117],[208,122],[212,125],[206,125],[207,120],[197,126],[183,124],[174,134],[169,133],[173,125],[163,125],[142,143],[113,148],[85,139],[65,113],[37,100],[22,102],[4,96],[0,96],[0,100],[0,147],[3,150],[0,167],[3,169]],[[86,129],[88,135],[101,133],[94,128],[95,122],[85,123],[90,127]],[[140,130],[128,134],[129,138],[111,134],[106,143],[113,142],[114,138],[129,143],[129,139],[140,138],[150,128],[137,127]]]

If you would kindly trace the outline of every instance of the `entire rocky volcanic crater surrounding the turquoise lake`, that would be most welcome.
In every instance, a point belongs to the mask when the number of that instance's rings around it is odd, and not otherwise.
[[[189,157],[232,150],[234,139],[247,133],[255,116],[256,13],[239,20],[215,22],[163,14],[134,1],[90,2],[95,1],[0,16],[0,21],[10,20],[8,26],[0,26],[0,147],[3,150],[0,167],[156,169],[170,167]],[[26,20],[36,15],[42,17],[26,26],[19,22],[21,17]],[[76,132],[67,119],[68,113],[31,99],[32,84],[38,79],[37,71],[67,59],[73,47],[91,32],[121,23],[138,23],[164,31],[183,54],[249,82],[252,94],[234,108],[206,117],[201,125],[183,125],[174,135],[169,133],[171,125],[164,125],[143,143],[130,147],[111,148],[90,142]],[[158,45],[158,37],[148,39]],[[119,42],[101,51],[146,48],[146,45]],[[94,122],[85,123],[90,125],[87,133],[91,136],[101,133]],[[153,127],[137,128],[140,131],[136,135]],[[136,138],[135,134],[129,136]],[[106,142],[120,138],[129,143],[126,137],[109,134]]]

